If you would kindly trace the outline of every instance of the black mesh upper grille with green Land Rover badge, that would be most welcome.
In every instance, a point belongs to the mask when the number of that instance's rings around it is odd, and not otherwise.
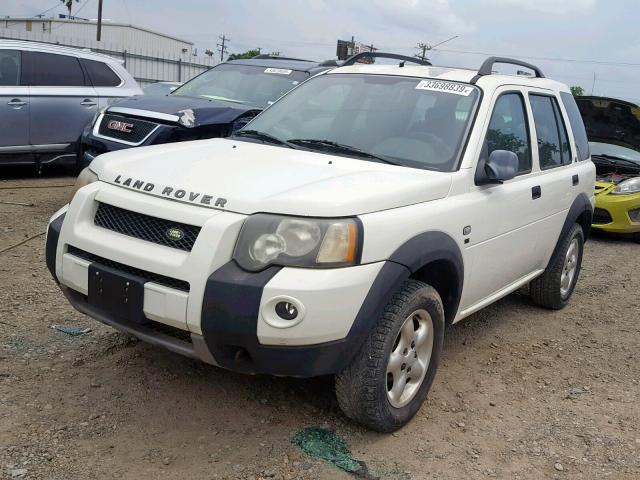
[[[191,251],[200,233],[200,227],[194,225],[132,212],[107,203],[98,205],[94,223],[123,235],[187,252]]]

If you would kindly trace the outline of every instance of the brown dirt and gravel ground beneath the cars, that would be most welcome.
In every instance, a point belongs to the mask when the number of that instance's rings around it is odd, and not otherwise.
[[[0,176],[1,251],[43,233],[73,179]],[[381,435],[340,413],[330,378],[227,372],[75,312],[37,237],[0,253],[0,478],[352,478],[291,443],[317,425],[369,478],[638,479],[639,253],[597,236],[566,309],[516,293],[449,328],[428,401]]]

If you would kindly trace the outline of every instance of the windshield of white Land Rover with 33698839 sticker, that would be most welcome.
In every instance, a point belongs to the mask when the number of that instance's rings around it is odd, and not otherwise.
[[[247,128],[311,150],[365,160],[369,155],[372,161],[452,171],[457,168],[478,96],[476,87],[462,83],[384,75],[320,75],[256,117]]]

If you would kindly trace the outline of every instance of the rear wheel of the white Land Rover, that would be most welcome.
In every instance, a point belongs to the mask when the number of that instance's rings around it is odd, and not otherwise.
[[[572,250],[573,253],[570,253],[569,249],[572,246],[577,251]],[[582,227],[576,223],[562,240],[558,251],[551,257],[544,273],[529,285],[531,299],[536,305],[552,310],[560,310],[569,303],[580,275],[583,251],[584,233]],[[573,257],[574,253],[575,257]],[[572,262],[575,270],[567,281],[565,279],[567,278],[568,270],[565,270],[565,268],[570,268],[568,255],[574,258]],[[563,283],[563,281],[566,283]]]

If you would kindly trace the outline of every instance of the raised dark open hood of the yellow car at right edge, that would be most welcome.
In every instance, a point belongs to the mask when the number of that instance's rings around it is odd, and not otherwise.
[[[640,151],[640,108],[608,97],[576,97],[590,142]]]

